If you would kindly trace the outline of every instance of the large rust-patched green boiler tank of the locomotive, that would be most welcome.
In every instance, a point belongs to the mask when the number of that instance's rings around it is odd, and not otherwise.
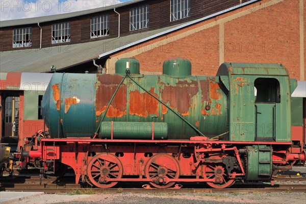
[[[97,128],[122,77],[118,74],[91,75],[94,76],[91,80],[87,79],[87,74],[55,75],[50,84],[51,91],[47,92],[49,96],[44,96],[49,100],[44,109],[48,112],[47,124],[53,126],[50,131],[53,137],[58,137],[58,133],[63,137],[81,137],[82,132],[94,134],[93,126]],[[216,136],[226,132],[226,96],[219,87],[218,78],[191,76],[177,79],[165,75],[135,75],[133,78],[204,134]],[[88,116],[92,112],[94,117]],[[84,120],[86,114],[88,120]],[[124,80],[110,104],[104,121],[111,120],[166,122],[169,139],[189,139],[197,135],[182,119],[130,79]],[[75,124],[79,125],[74,130]]]

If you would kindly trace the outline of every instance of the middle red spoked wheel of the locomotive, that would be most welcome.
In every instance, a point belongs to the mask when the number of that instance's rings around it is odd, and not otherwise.
[[[148,160],[145,175],[154,181],[150,182],[150,185],[156,188],[169,188],[175,182],[167,182],[167,180],[177,179],[180,176],[180,166],[172,156],[158,154]]]

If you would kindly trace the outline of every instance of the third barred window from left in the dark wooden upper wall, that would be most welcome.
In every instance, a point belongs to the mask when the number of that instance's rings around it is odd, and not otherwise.
[[[102,15],[91,18],[91,38],[108,36],[110,34],[109,15]]]

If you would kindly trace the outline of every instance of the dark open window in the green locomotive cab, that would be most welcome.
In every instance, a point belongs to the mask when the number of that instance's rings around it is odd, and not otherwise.
[[[274,78],[258,78],[254,82],[256,103],[280,103],[281,88]]]

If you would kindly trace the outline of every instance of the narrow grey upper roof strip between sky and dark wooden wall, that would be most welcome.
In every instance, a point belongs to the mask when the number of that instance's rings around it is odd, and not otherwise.
[[[16,19],[16,20],[3,20],[3,21],[0,21],[0,28],[16,26],[16,25],[23,25],[23,24],[34,24],[38,22],[42,23],[42,22],[48,22],[48,21],[53,21],[53,20],[60,20],[64,18],[71,18],[75,16],[82,16],[82,15],[96,13],[100,11],[112,10],[114,8],[124,7],[130,4],[136,4],[138,2],[144,2],[144,1],[146,0],[134,0],[131,2],[115,4],[112,6],[100,7],[100,8],[71,12],[71,13],[41,16],[41,17],[34,17],[34,18],[23,18],[23,19]]]

